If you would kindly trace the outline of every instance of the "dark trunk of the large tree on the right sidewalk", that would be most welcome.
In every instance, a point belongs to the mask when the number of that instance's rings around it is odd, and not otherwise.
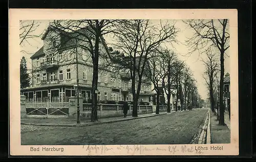
[[[224,50],[221,50],[221,76],[220,76],[220,117],[219,125],[224,125],[224,103],[223,103],[223,90],[224,90]]]

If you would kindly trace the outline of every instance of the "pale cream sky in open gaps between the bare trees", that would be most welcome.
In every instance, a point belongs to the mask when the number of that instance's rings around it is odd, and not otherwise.
[[[190,70],[194,74],[194,78],[197,80],[197,87],[198,87],[198,91],[201,98],[207,99],[208,91],[205,85],[205,81],[202,78],[205,68],[204,68],[203,62],[201,61],[202,59],[205,59],[206,56],[204,54],[200,55],[199,52],[197,51],[195,51],[189,56],[186,55],[188,53],[188,47],[186,47],[186,45],[184,45],[183,43],[186,40],[186,37],[189,37],[191,36],[191,34],[193,34],[193,31],[187,28],[182,20],[175,20],[175,21],[176,21],[175,26],[180,30],[180,32],[177,34],[177,40],[179,41],[179,43],[173,44],[173,47],[171,45],[168,45],[167,47],[175,51],[178,54],[179,59],[185,61],[185,63],[190,67]],[[40,35],[47,29],[50,21],[37,20],[36,22],[38,22],[39,27],[33,32],[33,34]],[[106,39],[106,41],[108,40]],[[30,57],[36,51],[38,51],[42,47],[42,45],[44,45],[44,43],[40,37],[28,39],[27,42],[25,41],[23,44],[20,45],[20,59],[23,56],[26,58],[28,69],[31,69]],[[228,52],[227,52],[227,55],[229,55]],[[229,57],[227,56],[225,57],[225,60],[224,60],[224,69],[225,69],[224,74],[229,73],[230,63],[229,63]]]

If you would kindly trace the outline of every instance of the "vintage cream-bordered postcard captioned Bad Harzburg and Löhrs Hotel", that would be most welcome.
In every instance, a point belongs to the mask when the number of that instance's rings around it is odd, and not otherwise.
[[[10,9],[11,155],[238,155],[234,9]]]

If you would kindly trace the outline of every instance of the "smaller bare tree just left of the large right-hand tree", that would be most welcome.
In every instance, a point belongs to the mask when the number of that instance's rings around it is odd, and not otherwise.
[[[216,59],[216,54],[211,51],[206,52],[206,59],[202,60],[205,65],[205,72],[203,78],[206,82],[207,88],[209,90],[211,111],[215,111],[215,100],[214,100],[214,81],[219,71],[219,64]]]

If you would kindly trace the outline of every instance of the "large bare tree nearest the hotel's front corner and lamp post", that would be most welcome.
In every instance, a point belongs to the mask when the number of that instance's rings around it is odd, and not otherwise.
[[[63,42],[71,42],[69,45],[75,46],[75,53],[77,54],[77,48],[80,47],[86,52],[89,52],[92,65],[93,65],[93,80],[92,80],[92,114],[91,121],[98,120],[97,117],[97,94],[95,90],[98,87],[98,69],[99,69],[99,57],[108,53],[105,40],[103,36],[112,32],[111,26],[115,20],[54,20],[53,26],[62,30],[60,33],[67,36]],[[72,35],[67,32],[72,32]],[[73,40],[73,41],[70,41]],[[84,53],[85,54],[85,53]],[[78,81],[77,81],[78,82]],[[79,87],[78,87],[79,88]]]

